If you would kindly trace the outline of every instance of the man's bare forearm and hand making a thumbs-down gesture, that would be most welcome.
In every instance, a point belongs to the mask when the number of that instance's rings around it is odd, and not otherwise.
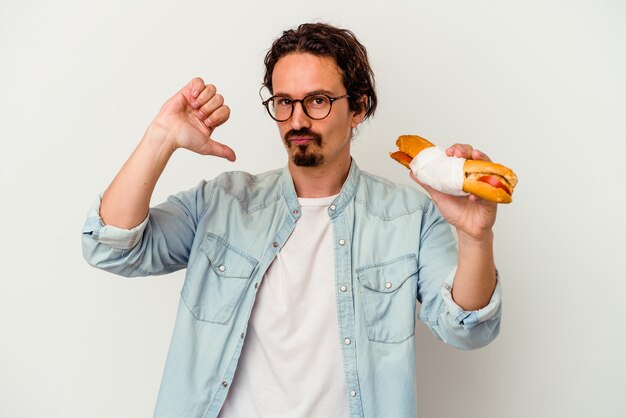
[[[215,86],[204,84],[200,78],[191,80],[163,105],[104,192],[100,204],[103,222],[125,229],[139,225],[149,211],[154,187],[177,148],[234,161],[232,149],[211,139],[213,130],[229,116],[230,109]]]

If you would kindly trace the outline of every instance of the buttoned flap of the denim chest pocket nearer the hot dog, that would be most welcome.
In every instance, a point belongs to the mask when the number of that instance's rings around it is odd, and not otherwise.
[[[413,254],[357,270],[363,286],[383,293],[395,292],[414,274],[417,274],[417,260]]]

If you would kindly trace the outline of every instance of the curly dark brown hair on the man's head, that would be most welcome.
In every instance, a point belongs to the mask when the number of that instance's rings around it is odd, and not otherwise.
[[[354,33],[326,23],[303,23],[297,29],[289,29],[274,41],[265,55],[265,77],[263,86],[274,94],[272,74],[280,58],[292,53],[309,53],[331,57],[341,69],[343,85],[350,95],[350,109],[365,109],[365,118],[374,114],[377,98],[374,86],[374,72],[367,59],[367,50],[357,40]],[[360,98],[365,95],[364,104]]]

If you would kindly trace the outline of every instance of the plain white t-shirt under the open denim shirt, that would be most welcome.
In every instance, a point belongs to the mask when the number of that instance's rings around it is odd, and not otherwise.
[[[328,206],[301,218],[265,273],[220,418],[347,417]]]

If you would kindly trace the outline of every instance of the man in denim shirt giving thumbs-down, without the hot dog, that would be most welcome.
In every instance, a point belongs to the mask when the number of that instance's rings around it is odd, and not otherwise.
[[[156,417],[414,417],[416,300],[448,344],[498,333],[495,205],[427,189],[435,206],[358,168],[353,131],[377,99],[351,32],[301,25],[265,64],[287,167],[224,173],[149,208],[176,149],[235,159],[211,139],[229,108],[196,78],[94,207],[85,257],[127,276],[187,268]]]

